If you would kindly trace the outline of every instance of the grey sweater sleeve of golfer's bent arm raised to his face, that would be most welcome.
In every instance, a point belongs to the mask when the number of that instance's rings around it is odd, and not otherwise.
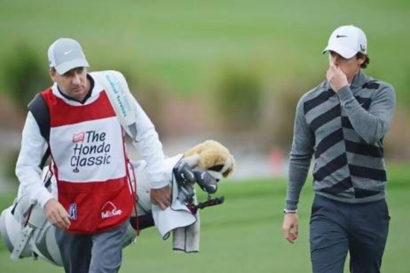
[[[383,138],[392,121],[396,104],[395,91],[391,85],[385,82],[380,84],[368,111],[361,107],[349,86],[343,87],[337,95],[352,127],[360,137],[369,144]]]

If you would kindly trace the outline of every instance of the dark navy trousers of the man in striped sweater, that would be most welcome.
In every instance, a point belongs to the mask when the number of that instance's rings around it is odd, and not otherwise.
[[[384,199],[348,204],[316,195],[310,221],[313,272],[342,273],[347,251],[351,272],[380,272],[389,219]]]

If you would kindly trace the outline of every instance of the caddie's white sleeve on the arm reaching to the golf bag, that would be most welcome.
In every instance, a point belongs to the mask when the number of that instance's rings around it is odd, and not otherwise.
[[[165,178],[165,156],[158,133],[150,118],[132,96],[136,112],[137,136],[133,145],[139,148],[142,157],[147,161],[147,172],[151,180],[151,188],[161,188],[168,185]]]

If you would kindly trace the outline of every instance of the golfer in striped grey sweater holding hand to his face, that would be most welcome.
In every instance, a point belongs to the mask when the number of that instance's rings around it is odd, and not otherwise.
[[[298,238],[297,205],[312,156],[315,198],[310,219],[313,272],[379,272],[388,234],[383,138],[393,118],[395,91],[364,74],[370,62],[364,32],[337,28],[323,50],[326,80],[296,108],[283,236]]]

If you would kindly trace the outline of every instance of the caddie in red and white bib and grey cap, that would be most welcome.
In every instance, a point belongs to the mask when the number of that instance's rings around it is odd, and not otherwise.
[[[29,104],[16,175],[32,204],[39,203],[56,227],[66,272],[117,272],[121,243],[134,209],[125,131],[106,92],[103,72],[88,73],[80,44],[59,38],[48,49],[54,85]],[[128,88],[121,73],[114,80]],[[108,82],[110,84],[110,82]],[[131,96],[133,144],[147,161],[151,199],[170,205],[164,155],[154,125]],[[56,188],[50,193],[40,167],[51,155]]]

